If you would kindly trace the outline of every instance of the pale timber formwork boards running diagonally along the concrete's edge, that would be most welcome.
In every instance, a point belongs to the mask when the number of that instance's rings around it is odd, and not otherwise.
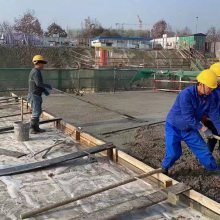
[[[12,95],[16,96],[16,94]],[[29,105],[26,101],[23,101],[23,106],[29,108]],[[53,119],[56,118],[56,116],[49,112],[43,111],[42,118]],[[62,130],[70,137],[88,146],[97,146],[106,143],[104,140],[100,140],[94,135],[88,134],[81,130],[81,128],[71,125],[64,120],[54,122],[54,126],[57,129]],[[103,152],[101,154],[108,155],[115,163],[123,165],[136,173],[147,173],[154,170],[154,168],[118,149],[111,149],[110,151]],[[164,187],[169,187],[179,183],[178,181],[162,173],[152,175],[152,180],[163,185]],[[210,217],[211,219],[220,218],[220,203],[202,195],[195,190],[188,190],[187,192],[182,193],[180,195],[180,200],[207,217]]]

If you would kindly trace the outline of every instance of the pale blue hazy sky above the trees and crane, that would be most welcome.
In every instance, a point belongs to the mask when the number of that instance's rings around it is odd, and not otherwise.
[[[161,19],[173,30],[188,26],[195,33],[196,24],[202,33],[211,26],[220,29],[220,0],[0,0],[0,22],[13,23],[27,10],[35,11],[44,30],[52,22],[64,29],[80,28],[88,16],[105,28],[116,28],[116,23],[138,28],[137,15],[143,29]]]

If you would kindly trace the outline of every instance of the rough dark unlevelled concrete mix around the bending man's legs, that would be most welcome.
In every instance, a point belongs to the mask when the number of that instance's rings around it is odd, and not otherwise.
[[[146,164],[159,168],[165,155],[164,143],[164,125],[142,127],[137,130],[135,141],[130,143],[131,154]],[[184,143],[182,148],[183,155],[169,170],[169,176],[220,202],[220,179],[208,174]],[[220,161],[217,145],[214,157]]]

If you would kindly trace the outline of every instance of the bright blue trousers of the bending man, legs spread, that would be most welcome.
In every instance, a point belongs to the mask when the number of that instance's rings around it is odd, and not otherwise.
[[[180,158],[182,155],[181,141],[184,141],[207,170],[218,169],[208,145],[197,130],[182,131],[168,122],[166,122],[165,129],[166,155],[162,162],[163,168],[170,168]]]

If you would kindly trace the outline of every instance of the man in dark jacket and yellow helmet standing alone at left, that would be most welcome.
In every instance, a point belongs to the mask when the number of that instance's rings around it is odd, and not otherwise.
[[[52,87],[49,84],[43,83],[41,70],[44,68],[44,64],[47,61],[41,55],[36,55],[32,60],[34,68],[29,74],[29,91],[28,91],[28,102],[31,104],[32,115],[30,122],[30,132],[32,134],[44,132],[44,129],[39,128],[39,118],[42,113],[42,93],[46,96],[49,95],[48,90]]]

